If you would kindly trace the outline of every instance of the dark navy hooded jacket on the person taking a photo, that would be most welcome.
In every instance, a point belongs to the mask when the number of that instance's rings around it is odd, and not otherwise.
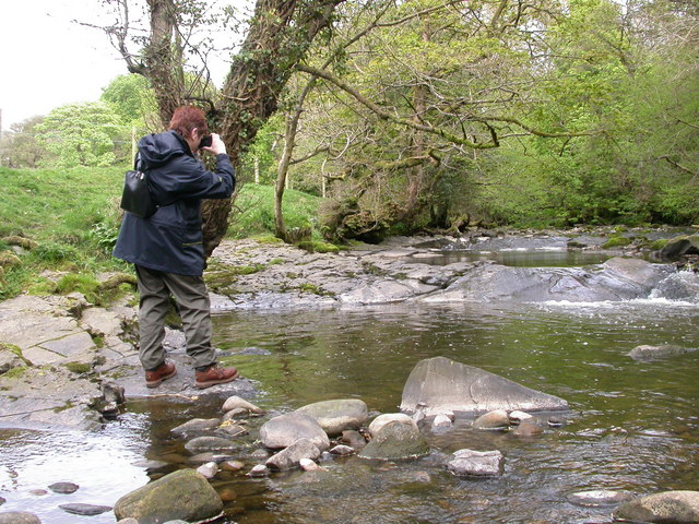
[[[142,138],[139,153],[159,207],[150,218],[125,214],[114,255],[151,270],[201,275],[201,200],[233,193],[236,179],[228,155],[216,155],[215,172],[208,171],[176,131]]]

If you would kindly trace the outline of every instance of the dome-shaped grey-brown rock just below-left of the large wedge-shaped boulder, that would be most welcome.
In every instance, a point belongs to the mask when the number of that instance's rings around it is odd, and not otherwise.
[[[394,461],[423,456],[428,453],[429,445],[416,427],[392,421],[381,428],[378,434],[364,446],[358,456]]]

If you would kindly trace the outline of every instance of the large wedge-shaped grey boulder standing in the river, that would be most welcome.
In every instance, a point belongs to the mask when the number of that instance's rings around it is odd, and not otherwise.
[[[419,361],[405,386],[401,410],[437,415],[447,410],[483,413],[495,409],[556,410],[568,403],[517,382],[445,357]]]

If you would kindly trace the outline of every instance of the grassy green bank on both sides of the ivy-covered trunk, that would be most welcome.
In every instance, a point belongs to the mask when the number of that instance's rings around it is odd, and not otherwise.
[[[0,299],[79,290],[99,301],[97,275],[130,273],[114,259],[123,168],[0,168]],[[312,228],[319,199],[288,191],[289,228]],[[244,186],[228,235],[272,235],[274,188]],[[117,293],[115,289],[114,293]]]

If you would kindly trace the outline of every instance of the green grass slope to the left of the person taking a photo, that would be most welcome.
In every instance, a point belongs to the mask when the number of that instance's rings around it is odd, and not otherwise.
[[[23,290],[78,290],[99,298],[94,275],[127,270],[110,257],[119,228],[123,172],[123,168],[0,168],[0,239],[4,239],[0,259],[17,250],[20,260],[3,266],[0,299]],[[17,241],[22,239],[26,241]],[[43,276],[47,270],[80,278],[69,285],[64,277],[56,283]]]

